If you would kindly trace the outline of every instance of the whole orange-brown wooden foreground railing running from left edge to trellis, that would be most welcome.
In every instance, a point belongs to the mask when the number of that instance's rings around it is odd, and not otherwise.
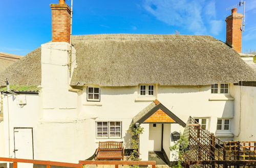
[[[51,166],[63,166],[63,167],[78,167],[82,168],[86,164],[110,164],[115,165],[152,165],[152,168],[156,168],[156,161],[116,161],[116,160],[80,160],[79,163],[67,163],[67,162],[57,162],[57,161],[46,161],[46,160],[31,160],[31,159],[18,159],[18,158],[6,158],[0,157],[0,161],[13,162],[13,168],[18,168],[17,163],[33,163],[46,165],[46,168],[51,168]]]

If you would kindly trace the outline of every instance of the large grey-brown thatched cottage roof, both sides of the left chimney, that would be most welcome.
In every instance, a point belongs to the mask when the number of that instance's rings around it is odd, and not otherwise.
[[[108,34],[73,36],[71,85],[210,85],[255,80],[239,54],[210,36]],[[0,75],[11,85],[40,85],[40,48]]]

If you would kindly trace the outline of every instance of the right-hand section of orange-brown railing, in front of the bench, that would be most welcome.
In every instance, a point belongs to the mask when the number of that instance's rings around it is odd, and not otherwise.
[[[156,168],[156,161],[106,161],[106,160],[80,160],[80,164],[109,164],[115,165],[115,168],[118,168],[118,165],[152,165],[152,168]]]

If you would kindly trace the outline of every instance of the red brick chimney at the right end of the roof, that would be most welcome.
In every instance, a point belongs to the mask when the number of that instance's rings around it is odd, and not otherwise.
[[[231,15],[226,17],[226,44],[242,52],[242,19],[243,15],[237,13],[237,8],[231,9]]]

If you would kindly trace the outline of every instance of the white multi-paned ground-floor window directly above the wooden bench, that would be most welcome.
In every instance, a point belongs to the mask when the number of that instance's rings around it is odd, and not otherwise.
[[[121,138],[122,122],[96,122],[97,138]]]

